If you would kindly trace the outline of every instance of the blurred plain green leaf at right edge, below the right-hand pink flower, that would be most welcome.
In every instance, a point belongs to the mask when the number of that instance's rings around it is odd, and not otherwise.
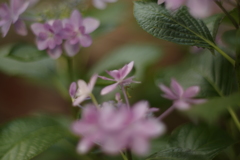
[[[229,97],[219,97],[208,100],[208,102],[192,106],[186,111],[191,117],[199,117],[209,123],[215,122],[221,115],[228,112],[228,107],[233,109],[240,106],[240,93],[232,94]]]

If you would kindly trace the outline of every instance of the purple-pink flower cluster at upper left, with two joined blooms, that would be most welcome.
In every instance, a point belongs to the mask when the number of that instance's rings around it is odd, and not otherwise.
[[[69,19],[51,20],[45,24],[31,25],[37,36],[39,50],[47,50],[48,54],[56,59],[62,54],[62,44],[68,56],[76,55],[80,47],[89,47],[92,39],[89,33],[99,26],[100,22],[94,18],[82,18],[79,11],[74,10]]]

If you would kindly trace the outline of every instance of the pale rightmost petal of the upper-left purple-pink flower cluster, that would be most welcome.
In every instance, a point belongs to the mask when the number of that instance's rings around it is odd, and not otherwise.
[[[95,18],[84,18],[83,19],[83,26],[85,27],[85,34],[89,34],[97,29],[100,25],[100,21]]]

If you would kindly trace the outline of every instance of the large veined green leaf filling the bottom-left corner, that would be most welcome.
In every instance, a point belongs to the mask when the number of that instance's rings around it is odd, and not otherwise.
[[[51,145],[70,137],[68,120],[62,117],[29,117],[0,129],[0,159],[30,160]]]

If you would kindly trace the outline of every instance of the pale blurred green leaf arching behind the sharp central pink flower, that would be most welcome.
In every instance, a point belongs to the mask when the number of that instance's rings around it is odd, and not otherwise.
[[[99,61],[90,71],[102,75],[106,70],[120,69],[123,65],[134,61],[136,80],[143,78],[145,68],[162,56],[161,50],[154,45],[134,44],[123,46]]]

